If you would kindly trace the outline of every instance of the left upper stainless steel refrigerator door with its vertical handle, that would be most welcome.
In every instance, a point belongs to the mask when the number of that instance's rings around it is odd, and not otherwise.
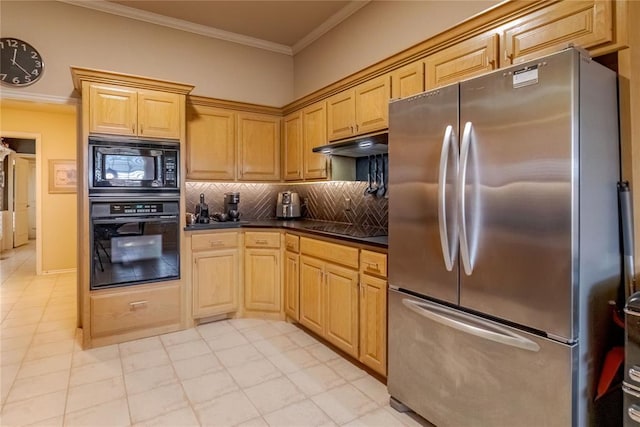
[[[389,283],[455,304],[457,133],[458,85],[389,105]]]

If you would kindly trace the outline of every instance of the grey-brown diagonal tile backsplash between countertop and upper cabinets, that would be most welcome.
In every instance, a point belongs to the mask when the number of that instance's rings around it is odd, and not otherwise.
[[[187,182],[187,212],[193,212],[204,194],[209,212],[222,212],[224,193],[239,192],[239,210],[244,220],[275,218],[276,199],[281,191],[295,191],[306,206],[303,217],[321,221],[387,227],[388,200],[364,195],[366,182],[331,181],[316,183]],[[349,208],[349,209],[347,209]]]

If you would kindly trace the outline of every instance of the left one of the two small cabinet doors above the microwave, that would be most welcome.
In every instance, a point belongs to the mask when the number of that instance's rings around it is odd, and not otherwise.
[[[136,135],[138,95],[120,86],[91,85],[89,132]]]

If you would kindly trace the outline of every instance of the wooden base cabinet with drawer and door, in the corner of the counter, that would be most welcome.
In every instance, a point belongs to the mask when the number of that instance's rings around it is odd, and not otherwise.
[[[280,233],[245,232],[244,306],[247,310],[282,309]]]

